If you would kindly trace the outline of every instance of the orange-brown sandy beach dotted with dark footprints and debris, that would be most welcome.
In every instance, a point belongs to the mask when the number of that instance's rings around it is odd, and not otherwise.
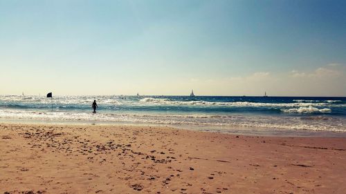
[[[346,193],[345,140],[0,124],[0,193]]]

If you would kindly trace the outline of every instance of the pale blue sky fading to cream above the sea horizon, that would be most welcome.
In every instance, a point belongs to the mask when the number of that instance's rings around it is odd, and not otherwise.
[[[0,0],[0,95],[346,96],[346,1]]]

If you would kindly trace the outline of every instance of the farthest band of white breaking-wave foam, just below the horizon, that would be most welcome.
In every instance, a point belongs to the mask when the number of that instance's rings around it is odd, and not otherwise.
[[[51,104],[51,99],[42,96],[30,96],[24,99],[21,96],[1,96],[1,101],[6,101],[7,104]],[[304,100],[294,99],[294,103],[264,103],[264,102],[251,102],[251,101],[230,101],[230,102],[218,102],[218,101],[174,101],[167,98],[145,97],[137,100],[127,100],[126,97],[120,96],[57,96],[53,98],[53,104],[66,106],[66,105],[82,105],[89,106],[93,99],[97,99],[98,104],[104,106],[228,106],[228,107],[268,107],[268,108],[300,108],[300,107],[345,107],[346,104],[337,104],[340,100]],[[328,107],[327,107],[328,108]]]

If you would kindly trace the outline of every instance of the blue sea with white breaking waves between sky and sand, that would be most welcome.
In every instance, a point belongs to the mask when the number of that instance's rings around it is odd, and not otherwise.
[[[99,106],[96,114],[91,108],[94,99]],[[346,134],[346,97],[2,95],[0,120],[145,124],[221,133]]]

